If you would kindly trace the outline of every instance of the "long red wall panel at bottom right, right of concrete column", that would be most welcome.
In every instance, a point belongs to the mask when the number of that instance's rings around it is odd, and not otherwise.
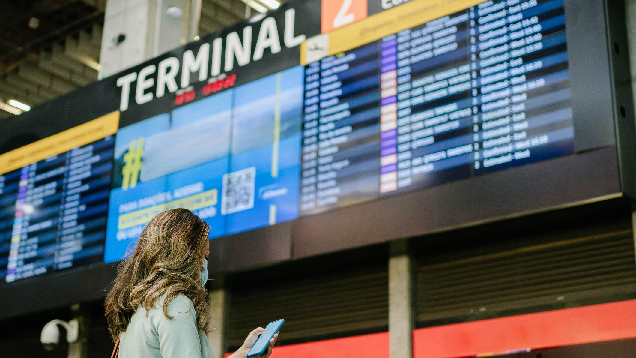
[[[636,337],[636,300],[413,331],[414,358],[474,357]]]

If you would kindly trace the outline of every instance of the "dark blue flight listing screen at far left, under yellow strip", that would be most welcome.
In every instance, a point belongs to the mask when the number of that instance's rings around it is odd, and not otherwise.
[[[102,261],[114,137],[0,176],[6,282]]]

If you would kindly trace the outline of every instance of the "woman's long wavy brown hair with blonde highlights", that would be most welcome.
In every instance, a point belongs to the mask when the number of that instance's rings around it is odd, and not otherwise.
[[[163,314],[174,297],[184,294],[192,301],[197,328],[209,329],[209,294],[200,283],[210,227],[186,209],[163,211],[139,236],[132,255],[121,262],[117,278],[106,296],[106,320],[113,340],[125,332],[130,317],[141,304],[148,314],[163,299]]]

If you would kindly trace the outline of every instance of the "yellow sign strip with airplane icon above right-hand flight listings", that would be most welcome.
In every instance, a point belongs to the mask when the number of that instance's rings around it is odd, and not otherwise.
[[[321,42],[325,45],[328,43],[328,53],[325,55],[334,55],[436,18],[466,10],[481,2],[483,0],[414,0],[401,4],[391,10],[382,11],[359,22],[331,31],[328,34],[328,39],[321,41],[314,41],[317,40],[314,38],[309,39],[308,42],[311,45],[305,42],[301,46],[301,64],[315,61],[312,56],[307,54],[308,51],[312,50],[312,46],[315,47],[313,42]]]

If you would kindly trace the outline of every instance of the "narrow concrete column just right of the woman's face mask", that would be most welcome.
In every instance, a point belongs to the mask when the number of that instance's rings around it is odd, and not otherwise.
[[[214,357],[223,357],[225,354],[228,296],[228,291],[223,285],[223,278],[214,280],[212,290],[210,291],[210,316],[213,330],[207,333],[207,338],[212,346]]]

